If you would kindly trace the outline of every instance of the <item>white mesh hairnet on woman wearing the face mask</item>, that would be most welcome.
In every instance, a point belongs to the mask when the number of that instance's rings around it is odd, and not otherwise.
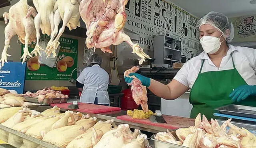
[[[218,31],[220,31],[224,35],[228,43],[231,43],[232,39],[234,38],[234,26],[232,22],[230,22],[228,17],[222,13],[212,11],[206,14],[198,21],[198,30],[200,30],[200,27],[204,24],[209,24],[216,28]],[[225,34],[225,31],[227,29],[230,30],[229,35]]]

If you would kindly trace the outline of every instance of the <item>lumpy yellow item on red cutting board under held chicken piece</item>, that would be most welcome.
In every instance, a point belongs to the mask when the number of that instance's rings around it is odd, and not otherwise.
[[[154,112],[148,110],[144,112],[143,110],[134,109],[134,111],[128,110],[127,115],[132,117],[133,119],[147,119],[150,115],[154,114]]]

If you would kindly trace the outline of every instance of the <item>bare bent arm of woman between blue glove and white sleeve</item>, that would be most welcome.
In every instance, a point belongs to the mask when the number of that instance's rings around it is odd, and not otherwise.
[[[176,80],[172,80],[168,85],[164,85],[154,79],[150,79],[150,86],[148,89],[158,97],[174,100],[188,91],[189,88]]]

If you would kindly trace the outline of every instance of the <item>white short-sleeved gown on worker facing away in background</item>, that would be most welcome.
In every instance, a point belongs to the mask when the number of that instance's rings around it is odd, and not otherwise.
[[[79,83],[84,84],[80,101],[83,103],[94,103],[96,94],[98,104],[109,104],[108,96],[108,73],[100,67],[93,65],[86,67],[76,79]]]

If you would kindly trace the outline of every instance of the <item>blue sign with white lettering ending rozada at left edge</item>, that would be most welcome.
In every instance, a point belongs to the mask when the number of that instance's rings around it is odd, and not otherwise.
[[[1,64],[0,64],[1,67]],[[20,94],[24,91],[26,63],[8,62],[0,69],[0,88],[16,91]]]

